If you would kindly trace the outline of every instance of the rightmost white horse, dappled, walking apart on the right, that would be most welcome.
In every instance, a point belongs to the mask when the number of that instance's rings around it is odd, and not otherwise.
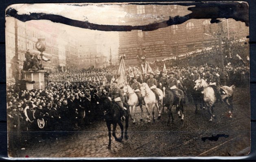
[[[212,121],[212,117],[215,117],[215,115],[213,114],[213,106],[217,100],[217,98],[214,94],[214,90],[203,79],[198,79],[195,81],[195,83],[196,83],[196,85],[194,87],[195,90],[198,90],[199,88],[203,87],[203,91],[202,91],[203,100],[204,100],[204,102],[209,110],[209,113],[211,115],[211,118],[209,121]],[[233,100],[233,93],[234,93],[235,86],[234,85],[232,85],[230,87],[222,86],[221,88],[225,91],[225,94],[221,95],[221,99],[225,102],[225,104],[228,105],[228,109],[229,109],[228,114],[229,114],[229,117],[232,118],[232,111],[233,111],[232,100]]]

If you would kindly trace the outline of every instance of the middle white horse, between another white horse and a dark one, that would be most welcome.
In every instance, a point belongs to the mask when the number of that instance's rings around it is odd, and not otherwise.
[[[159,99],[160,99],[160,102],[161,102],[161,105],[163,104],[163,92],[162,90],[160,90],[159,88],[157,88],[158,90],[158,93],[159,93]],[[158,100],[156,99],[155,97],[155,94],[154,92],[150,89],[149,85],[147,85],[147,83],[142,83],[142,85],[140,86],[140,92],[141,92],[141,95],[142,95],[142,98],[144,98],[144,101],[145,101],[145,106],[146,106],[146,109],[147,109],[147,112],[148,112],[148,115],[147,115],[147,119],[148,119],[148,122],[151,122],[150,120],[150,113],[149,113],[149,107],[151,108],[152,107],[152,115],[153,115],[153,121],[155,121],[155,117],[154,117],[154,109],[155,107],[157,107],[158,109],[158,117],[160,118],[161,117],[161,111],[162,109],[160,109],[160,105],[158,105]]]

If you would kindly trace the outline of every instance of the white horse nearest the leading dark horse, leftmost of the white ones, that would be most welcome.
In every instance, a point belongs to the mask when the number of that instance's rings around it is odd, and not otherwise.
[[[141,110],[141,117],[140,117],[140,121],[142,121],[142,113],[143,113],[143,108],[142,108],[142,104],[139,104],[139,100],[138,100],[138,96],[136,95],[136,93],[131,89],[130,85],[127,85],[123,88],[123,92],[124,95],[128,94],[129,96],[129,100],[128,100],[128,105],[129,105],[129,109],[130,109],[130,117],[133,120],[133,124],[136,123],[135,121],[135,107],[140,106],[140,110]]]

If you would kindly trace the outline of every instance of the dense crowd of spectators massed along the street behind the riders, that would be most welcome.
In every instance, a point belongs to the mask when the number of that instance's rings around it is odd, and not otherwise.
[[[166,69],[164,69],[164,65]],[[203,78],[219,78],[219,85],[235,85],[236,87],[249,85],[249,66],[240,64],[226,65],[223,69],[208,64],[200,66],[172,66],[165,61],[151,63],[151,72],[145,73],[144,65],[127,66],[127,82],[134,89],[137,83],[151,84],[152,78],[159,87],[163,83],[175,78],[178,87],[183,89],[183,81]],[[170,64],[169,64],[170,63]],[[143,68],[142,68],[143,67]],[[115,70],[113,70],[115,69]],[[74,131],[83,130],[98,120],[104,120],[104,111],[99,105],[102,96],[110,96],[118,75],[116,68],[95,69],[50,73],[48,86],[44,90],[24,90],[17,88],[15,80],[7,81],[7,120],[8,131]],[[152,80],[153,84],[155,80]],[[135,82],[135,84],[133,84]],[[170,83],[171,85],[171,83]],[[136,87],[136,86],[135,86]],[[11,138],[23,138],[11,136]]]

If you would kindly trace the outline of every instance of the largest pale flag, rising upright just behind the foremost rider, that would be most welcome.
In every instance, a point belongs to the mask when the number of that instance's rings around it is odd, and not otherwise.
[[[118,87],[122,87],[122,86],[126,86],[127,85],[127,78],[126,78],[126,72],[125,72],[125,61],[123,59],[123,57],[120,60],[120,65],[118,67],[118,71],[117,74],[119,74],[118,79],[116,79],[117,81],[117,86]]]

